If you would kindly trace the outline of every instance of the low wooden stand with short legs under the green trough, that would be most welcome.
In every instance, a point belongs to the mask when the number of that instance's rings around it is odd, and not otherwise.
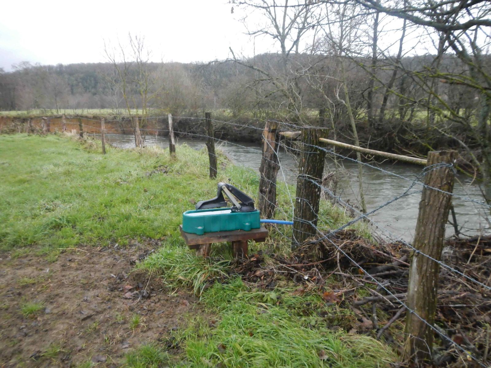
[[[213,243],[230,242],[234,257],[246,258],[248,250],[247,240],[263,242],[268,237],[268,230],[262,226],[259,229],[252,229],[249,231],[220,231],[217,233],[205,233],[203,235],[185,233],[182,225],[179,225],[179,230],[189,249],[196,249],[196,255],[201,257],[210,256]]]

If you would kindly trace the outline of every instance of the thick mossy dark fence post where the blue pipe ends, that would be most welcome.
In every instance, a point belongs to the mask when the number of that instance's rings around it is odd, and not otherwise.
[[[319,146],[319,138],[326,138],[327,128],[302,128],[297,197],[293,213],[292,247],[298,247],[305,239],[317,233],[317,215],[321,198],[321,182],[326,151]]]

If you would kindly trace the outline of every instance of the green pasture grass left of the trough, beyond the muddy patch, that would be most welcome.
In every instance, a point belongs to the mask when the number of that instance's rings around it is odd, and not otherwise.
[[[89,142],[91,143],[91,142]],[[223,158],[222,158],[223,160]],[[167,165],[168,174],[152,173]],[[125,245],[163,238],[183,244],[178,225],[190,200],[208,198],[208,157],[179,146],[178,158],[148,149],[109,149],[63,137],[0,136],[0,249],[56,252],[78,244]],[[241,171],[241,169],[233,169]],[[218,180],[233,176],[226,169]]]

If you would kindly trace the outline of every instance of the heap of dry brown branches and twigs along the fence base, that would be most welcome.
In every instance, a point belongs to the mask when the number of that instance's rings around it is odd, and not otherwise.
[[[401,243],[372,243],[345,230],[305,242],[289,259],[256,254],[237,264],[245,282],[273,288],[287,277],[302,290],[320,292],[326,304],[346,308],[359,326],[350,332],[404,343],[410,250]],[[491,286],[491,237],[447,240],[442,263]],[[479,367],[491,363],[491,292],[441,267],[436,312],[436,366]],[[333,278],[335,284],[333,286]],[[455,346],[460,345],[464,351]]]

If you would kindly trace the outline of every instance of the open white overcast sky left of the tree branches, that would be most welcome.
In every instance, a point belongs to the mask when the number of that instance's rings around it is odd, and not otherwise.
[[[105,62],[104,40],[145,36],[154,61],[224,59],[229,46],[251,55],[252,40],[228,0],[3,1],[0,68],[21,61],[40,64]],[[256,53],[271,49],[256,40]]]

